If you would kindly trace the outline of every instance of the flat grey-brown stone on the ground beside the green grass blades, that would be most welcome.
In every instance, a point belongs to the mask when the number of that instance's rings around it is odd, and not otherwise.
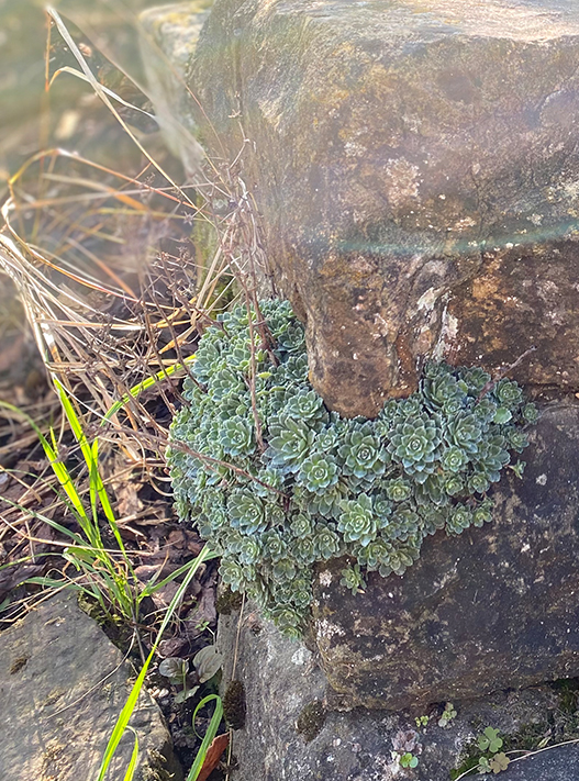
[[[132,680],[131,680],[132,679]],[[74,595],[53,596],[0,635],[0,781],[96,779],[134,680],[131,666]],[[181,781],[160,711],[143,693],[131,725],[138,734],[140,781]],[[125,733],[108,779],[131,758]]]

